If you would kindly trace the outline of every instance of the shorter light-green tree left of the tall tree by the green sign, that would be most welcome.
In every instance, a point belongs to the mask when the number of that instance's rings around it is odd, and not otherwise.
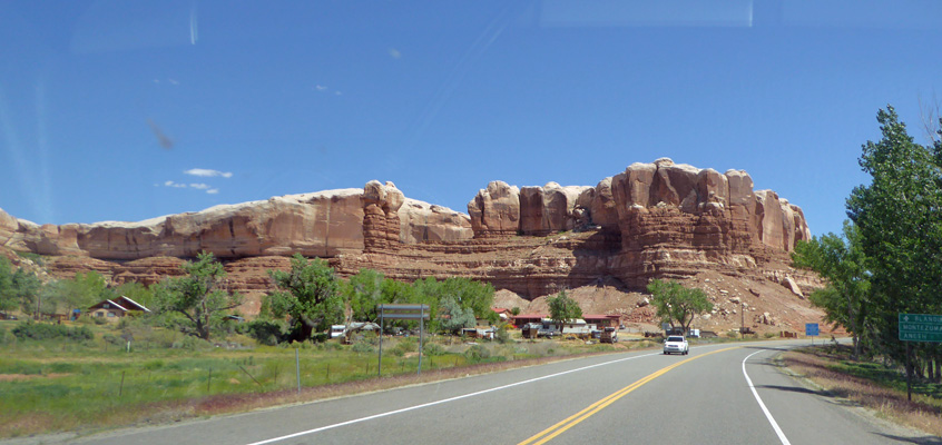
[[[844,221],[843,237],[827,234],[798,241],[792,260],[795,267],[814,270],[827,280],[827,286],[812,293],[808,299],[824,309],[827,322],[851,333],[854,357],[858,356],[869,313],[870,270],[856,227]]]

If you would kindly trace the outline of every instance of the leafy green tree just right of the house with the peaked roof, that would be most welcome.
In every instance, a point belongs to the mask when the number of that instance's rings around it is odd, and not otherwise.
[[[212,332],[223,325],[228,310],[242,304],[242,296],[220,288],[226,269],[213,254],[202,253],[196,261],[186,261],[180,267],[185,276],[155,286],[155,310],[164,316],[176,315],[174,319],[183,333],[208,340]]]

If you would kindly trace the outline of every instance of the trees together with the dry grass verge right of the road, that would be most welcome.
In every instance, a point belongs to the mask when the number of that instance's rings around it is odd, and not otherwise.
[[[942,315],[942,119],[925,122],[925,146],[893,107],[876,119],[882,138],[860,157],[871,180],[847,198],[843,233],[799,241],[792,255],[794,266],[825,278],[809,299],[853,345],[786,354],[786,362],[831,392],[938,435],[942,336],[901,340],[900,318]]]

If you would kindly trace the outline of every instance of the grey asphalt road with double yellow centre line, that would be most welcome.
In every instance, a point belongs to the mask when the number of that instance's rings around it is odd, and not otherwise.
[[[807,342],[596,356],[80,444],[935,444],[808,389],[772,358]],[[33,439],[33,443],[37,441]]]

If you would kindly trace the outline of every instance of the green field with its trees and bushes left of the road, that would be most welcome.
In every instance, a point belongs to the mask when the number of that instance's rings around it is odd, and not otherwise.
[[[225,276],[200,254],[150,287],[108,286],[95,273],[42,283],[0,258],[0,308],[20,318],[0,322],[0,437],[166,423],[656,345],[524,340],[491,310],[490,285],[406,284],[375,270],[343,279],[301,256],[290,270],[269,271],[276,290],[246,320]],[[151,312],[117,322],[84,314],[122,295]],[[332,325],[379,322],[376,305],[386,303],[430,306],[421,375],[416,322],[385,322],[382,378],[375,330],[327,334]],[[571,318],[580,309],[568,303]],[[493,326],[492,340],[462,336],[480,325]]]

